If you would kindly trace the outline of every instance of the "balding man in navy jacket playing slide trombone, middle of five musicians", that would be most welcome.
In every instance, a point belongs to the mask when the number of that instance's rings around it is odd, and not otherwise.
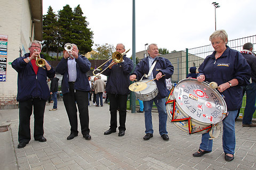
[[[116,45],[116,52],[124,53],[125,47],[123,44]],[[110,65],[113,64],[113,65]],[[109,66],[110,65],[110,66]],[[108,67],[108,68],[107,68]],[[117,128],[117,109],[119,109],[119,133],[118,136],[122,137],[125,134],[125,121],[126,121],[126,102],[127,95],[129,94],[129,76],[133,69],[133,62],[126,55],[123,55],[123,60],[116,63],[114,60],[108,61],[103,67],[102,74],[108,76],[106,84],[106,91],[109,95],[109,111],[110,111],[110,128],[104,134],[116,132]]]

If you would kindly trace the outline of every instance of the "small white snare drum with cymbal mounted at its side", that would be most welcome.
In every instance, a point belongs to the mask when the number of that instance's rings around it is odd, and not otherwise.
[[[150,81],[148,79],[142,80],[141,82],[147,82],[147,88],[141,91],[134,91],[135,96],[142,101],[149,101],[151,99],[154,99],[158,94],[156,82],[154,80]]]

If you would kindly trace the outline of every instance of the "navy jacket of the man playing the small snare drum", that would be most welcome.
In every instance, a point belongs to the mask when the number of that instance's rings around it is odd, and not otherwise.
[[[157,60],[156,65],[153,69],[153,76],[156,78],[156,74],[159,72],[162,72],[163,76],[158,81],[155,80],[156,86],[158,88],[158,94],[156,96],[157,99],[165,98],[168,95],[168,90],[166,88],[165,79],[169,79],[172,77],[173,74],[173,66],[172,63],[163,57],[156,57],[155,60]],[[148,63],[148,56],[146,58],[143,58],[139,64],[135,67],[135,70],[132,74],[137,75],[137,80],[140,80],[144,74],[148,74],[149,72],[149,63]],[[143,80],[147,79],[143,77]]]

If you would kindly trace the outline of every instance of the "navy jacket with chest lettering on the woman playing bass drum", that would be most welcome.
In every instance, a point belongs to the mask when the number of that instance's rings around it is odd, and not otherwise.
[[[207,56],[199,67],[199,75],[205,75],[205,81],[215,81],[218,85],[232,79],[238,80],[238,85],[230,87],[221,94],[225,96],[228,111],[235,111],[242,105],[241,86],[249,84],[251,68],[240,52],[226,46],[225,52],[215,60],[215,51]]]

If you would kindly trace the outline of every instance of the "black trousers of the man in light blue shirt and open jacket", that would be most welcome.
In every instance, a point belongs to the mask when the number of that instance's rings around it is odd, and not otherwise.
[[[68,114],[71,126],[70,133],[78,134],[77,130],[77,107],[79,111],[79,119],[82,134],[89,134],[89,111],[88,111],[88,92],[75,90],[74,84],[69,83],[69,92],[63,95],[63,102]],[[76,107],[77,104],[77,107]]]

